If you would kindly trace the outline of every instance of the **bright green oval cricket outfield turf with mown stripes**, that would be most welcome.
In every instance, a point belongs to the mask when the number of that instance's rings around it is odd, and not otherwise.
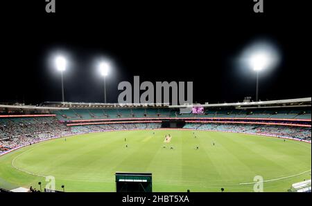
[[[165,143],[168,133],[171,142]],[[41,176],[54,176],[56,189],[115,191],[116,171],[152,172],[153,191],[253,191],[253,184],[241,183],[254,176],[263,176],[264,191],[287,191],[294,182],[311,179],[311,144],[210,131],[76,135],[0,157],[0,187],[38,188],[37,182],[46,184]]]

